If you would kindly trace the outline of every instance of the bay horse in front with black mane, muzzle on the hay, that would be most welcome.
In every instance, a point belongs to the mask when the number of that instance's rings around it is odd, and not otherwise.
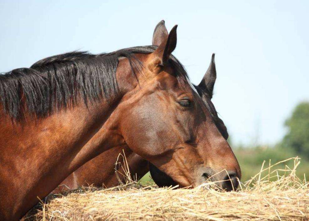
[[[180,186],[213,174],[231,178],[222,188],[236,185],[239,164],[210,98],[205,105],[171,55],[176,29],[158,32],[158,47],[67,53],[0,76],[1,220],[22,217],[81,165],[122,145]]]

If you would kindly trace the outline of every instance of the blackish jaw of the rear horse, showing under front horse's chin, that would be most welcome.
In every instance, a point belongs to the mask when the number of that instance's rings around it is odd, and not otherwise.
[[[159,170],[155,165],[149,162],[149,171],[153,181],[158,187],[170,187],[176,186],[176,183],[170,176]]]

